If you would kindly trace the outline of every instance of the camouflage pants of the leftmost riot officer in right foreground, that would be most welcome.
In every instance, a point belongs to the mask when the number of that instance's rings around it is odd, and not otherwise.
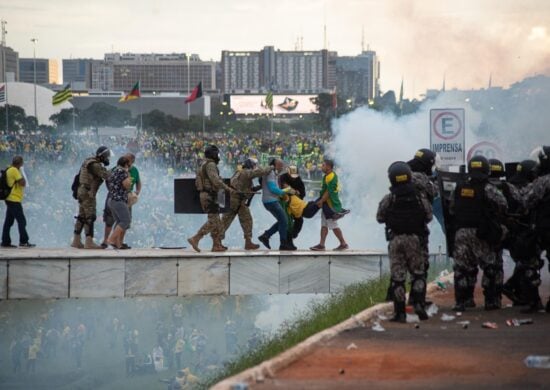
[[[393,283],[393,300],[405,302],[405,281],[407,272],[411,276],[411,294],[416,295],[418,302],[426,286],[425,258],[423,256],[421,239],[412,234],[394,236],[388,246],[390,256],[391,279]]]

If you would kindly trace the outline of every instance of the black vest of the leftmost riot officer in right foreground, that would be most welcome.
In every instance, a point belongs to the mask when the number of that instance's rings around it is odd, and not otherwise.
[[[416,234],[425,236],[426,212],[416,190],[405,194],[394,194],[386,211],[386,226],[394,235]]]

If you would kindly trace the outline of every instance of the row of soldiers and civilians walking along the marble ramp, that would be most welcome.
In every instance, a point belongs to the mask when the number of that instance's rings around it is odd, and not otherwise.
[[[120,157],[116,166],[108,170],[110,156],[109,148],[99,147],[94,156],[82,163],[78,174],[74,177],[72,192],[79,205],[71,243],[74,248],[105,249],[112,246],[116,249],[130,249],[130,246],[124,243],[124,237],[131,224],[132,205],[137,202],[141,190],[139,171],[133,165],[135,161],[133,154]],[[252,196],[259,190],[262,191],[262,203],[265,209],[276,219],[273,226],[258,237],[266,248],[271,249],[270,238],[278,232],[279,250],[295,250],[293,240],[302,228],[303,219],[312,218],[321,210],[320,242],[310,249],[325,250],[325,240],[329,230],[332,230],[339,240],[335,250],[348,249],[337,220],[349,213],[349,210],[342,207],[339,198],[340,185],[338,176],[333,170],[333,161],[325,160],[323,163],[322,188],[319,198],[315,201],[304,200],[305,185],[298,175],[297,168],[291,166],[288,171],[285,171],[283,161],[280,159],[272,159],[267,167],[258,166],[255,159],[247,159],[242,169],[237,170],[231,177],[229,185],[225,184],[219,176],[219,161],[219,149],[215,145],[207,146],[205,160],[198,168],[195,184],[200,193],[201,207],[208,214],[208,220],[193,237],[188,239],[194,250],[200,252],[201,238],[210,234],[213,241],[212,251],[226,251],[227,247],[223,245],[222,240],[236,216],[243,229],[244,249],[258,249],[259,245],[252,242],[253,221],[249,205]],[[2,247],[15,247],[11,244],[9,236],[14,220],[18,221],[20,247],[34,246],[28,243],[26,221],[21,205],[26,185],[22,166],[23,159],[20,156],[15,157],[12,166],[6,170],[6,174],[2,174],[2,180],[0,180],[0,190],[2,190],[0,194],[6,194],[4,199],[8,206]],[[254,185],[255,178],[260,180],[259,185]],[[104,181],[108,189],[103,213],[105,234],[103,242],[98,245],[94,242],[94,223],[97,219],[96,197]],[[1,185],[2,183],[4,185]],[[226,213],[220,215],[218,195],[221,192],[224,197],[225,191],[230,193],[230,207]],[[83,232],[84,242],[82,242]]]

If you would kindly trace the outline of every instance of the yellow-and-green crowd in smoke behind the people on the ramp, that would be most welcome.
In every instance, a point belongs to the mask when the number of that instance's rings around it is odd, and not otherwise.
[[[34,244],[40,247],[63,247],[70,241],[74,230],[72,217],[77,216],[76,202],[71,198],[71,179],[82,161],[94,156],[100,142],[109,146],[115,155],[130,152],[135,155],[145,183],[138,207],[133,210],[133,247],[181,246],[186,230],[192,231],[200,220],[187,216],[183,224],[180,215],[174,215],[173,179],[193,176],[204,158],[204,145],[217,142],[221,150],[220,170],[230,176],[247,157],[267,164],[275,153],[297,164],[304,180],[319,180],[321,165],[328,142],[327,134],[274,134],[237,136],[212,134],[203,138],[194,134],[158,135],[139,134],[137,139],[107,137],[96,134],[4,134],[0,136],[0,160],[3,167],[12,162],[14,155],[24,159],[27,177],[25,188],[25,217],[27,230]],[[307,184],[308,189],[311,187]],[[46,194],[49,194],[46,196]],[[103,199],[106,187],[98,194],[96,226],[103,222]],[[47,199],[47,202],[44,200]],[[257,207],[253,205],[253,207]],[[229,242],[237,242],[236,229],[227,232]],[[101,231],[96,232],[100,237]]]

